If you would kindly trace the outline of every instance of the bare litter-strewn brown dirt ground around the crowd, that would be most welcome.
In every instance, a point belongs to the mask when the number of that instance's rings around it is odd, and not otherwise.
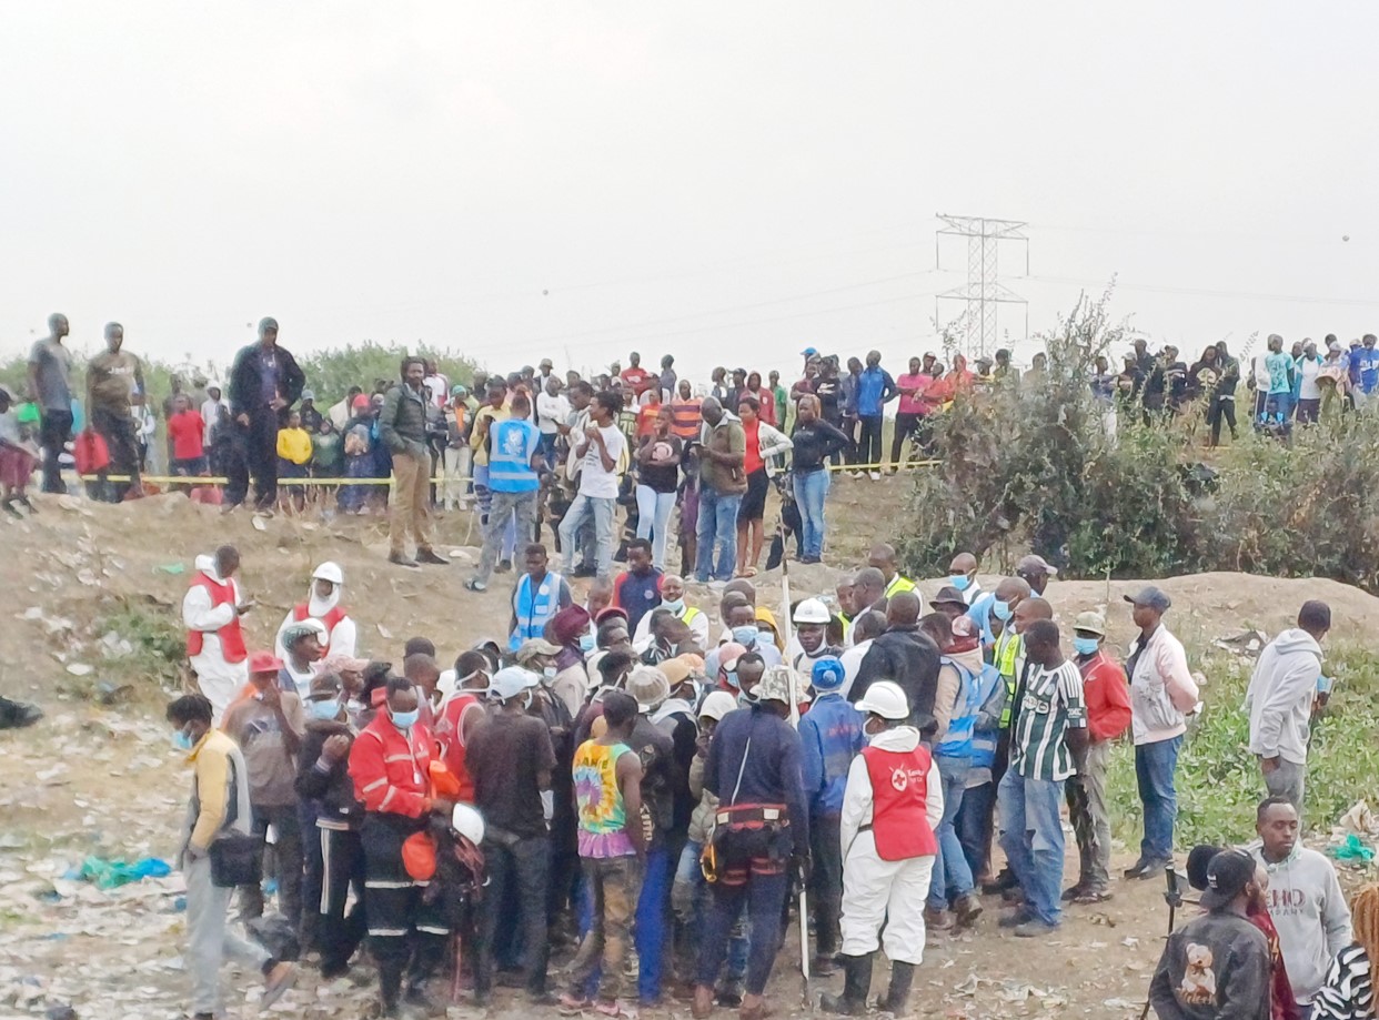
[[[838,480],[830,498],[830,560],[844,568],[865,561],[866,549],[899,527],[905,478]],[[404,571],[385,562],[383,522],[372,518],[288,520],[263,529],[247,514],[221,517],[181,496],[124,506],[41,498],[37,517],[0,520],[0,693],[40,703],[40,725],[0,733],[0,1016],[41,1016],[72,1003],[81,1017],[154,1020],[182,1016],[186,975],[181,951],[183,914],[177,874],[110,892],[65,878],[90,855],[171,860],[182,819],[188,776],[170,748],[156,685],[113,706],[90,692],[119,663],[105,657],[101,638],[121,602],[175,616],[192,560],[222,542],[243,554],[243,583],[259,600],[250,626],[254,644],[268,645],[308,587],[312,567],[341,562],[346,602],[360,622],[360,644],[374,657],[400,659],[414,634],[432,637],[452,657],[480,637],[503,631],[506,584],[484,595],[465,591],[465,562]],[[467,514],[439,522],[437,549],[474,554]],[[181,564],[186,573],[168,573]],[[174,568],[175,569],[175,568]],[[827,593],[844,571],[792,569],[792,594]],[[499,578],[499,582],[502,579]],[[923,584],[932,595],[939,582]],[[1291,622],[1303,598],[1325,598],[1336,637],[1360,640],[1379,600],[1325,580],[1278,580],[1244,575],[1175,578],[1160,584],[1175,600],[1171,622],[1186,638],[1214,638],[1247,627],[1274,631]],[[761,578],[763,604],[779,604],[779,575]],[[1056,582],[1048,597],[1059,619],[1110,600],[1111,638],[1129,638],[1121,594],[1135,582]],[[691,600],[716,609],[707,591]],[[123,674],[120,674],[123,675]],[[137,685],[138,686],[138,685]],[[1071,844],[1071,838],[1069,837]],[[1124,853],[1117,864],[1128,864]],[[1076,864],[1073,864],[1076,867]],[[1073,879],[1067,871],[1067,882]],[[931,936],[916,980],[912,1012],[934,1017],[1136,1016],[1158,957],[1167,908],[1157,882],[1121,884],[1107,904],[1073,908],[1056,936],[1015,940],[996,928],[996,903],[975,932]],[[797,950],[782,952],[771,992],[801,1012]],[[840,979],[815,981],[814,992]],[[876,986],[884,983],[878,966]],[[254,981],[240,976],[230,1016],[255,1016]],[[359,1016],[370,994],[349,981],[301,986],[273,1013],[306,1017]],[[685,1014],[688,1003],[647,1010]],[[461,1009],[456,1014],[474,1012]],[[498,1013],[531,1013],[501,1002]],[[543,1012],[543,1010],[538,1010]],[[550,1010],[550,1016],[554,1012]]]

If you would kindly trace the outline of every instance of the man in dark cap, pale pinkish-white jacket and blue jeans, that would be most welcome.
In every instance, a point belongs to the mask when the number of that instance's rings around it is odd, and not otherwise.
[[[1178,791],[1174,773],[1187,732],[1186,713],[1197,703],[1197,682],[1187,670],[1183,642],[1168,633],[1164,613],[1172,600],[1147,584],[1125,595],[1139,637],[1131,645],[1125,673],[1135,739],[1135,779],[1145,805],[1145,838],[1139,860],[1125,878],[1157,878],[1174,861],[1174,823]]]

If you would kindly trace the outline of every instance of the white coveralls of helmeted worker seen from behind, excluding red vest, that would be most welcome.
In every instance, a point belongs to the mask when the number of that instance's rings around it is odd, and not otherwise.
[[[872,747],[883,751],[913,751],[920,744],[920,731],[896,726],[878,733]],[[929,761],[925,780],[925,817],[938,830],[943,820],[943,782],[939,768]],[[863,957],[880,944],[885,925],[885,955],[903,963],[924,962],[924,901],[929,895],[934,856],[907,860],[881,860],[872,830],[859,831],[872,822],[872,777],[866,759],[859,754],[848,769],[843,794],[843,954]]]

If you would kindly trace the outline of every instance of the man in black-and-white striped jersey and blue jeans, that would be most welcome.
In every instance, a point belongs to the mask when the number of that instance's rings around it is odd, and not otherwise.
[[[1063,892],[1063,782],[1087,754],[1087,704],[1077,663],[1063,657],[1058,624],[1034,620],[1023,631],[1026,669],[1011,717],[1011,762],[997,802],[1001,849],[1025,895],[1001,918],[1030,939],[1058,928]]]

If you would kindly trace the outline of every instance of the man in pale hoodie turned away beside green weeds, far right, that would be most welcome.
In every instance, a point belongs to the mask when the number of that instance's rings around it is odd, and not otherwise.
[[[1249,753],[1259,758],[1270,797],[1287,797],[1299,815],[1311,710],[1321,691],[1321,640],[1328,630],[1331,606],[1303,602],[1298,626],[1282,631],[1260,652],[1245,692]]]

